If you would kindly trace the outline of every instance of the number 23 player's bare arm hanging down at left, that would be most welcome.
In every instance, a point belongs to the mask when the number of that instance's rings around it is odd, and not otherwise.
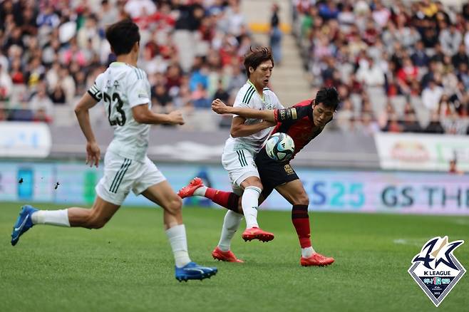
[[[93,108],[96,103],[98,103],[97,100],[88,93],[85,93],[75,108],[75,115],[78,119],[78,124],[86,137],[86,164],[89,164],[90,167],[93,167],[93,165],[98,167],[100,160],[100,149],[98,142],[96,142],[93,129],[91,128],[89,114],[89,110]]]

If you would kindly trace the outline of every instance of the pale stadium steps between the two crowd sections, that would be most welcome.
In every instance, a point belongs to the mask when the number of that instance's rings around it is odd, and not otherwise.
[[[242,12],[253,33],[256,43],[269,45],[268,29],[272,14],[271,0],[242,1]],[[291,4],[289,0],[279,0],[279,19],[282,37],[282,64],[276,65],[272,75],[271,87],[285,106],[291,106],[306,98],[314,97],[309,76],[304,71],[300,50],[291,34]]]

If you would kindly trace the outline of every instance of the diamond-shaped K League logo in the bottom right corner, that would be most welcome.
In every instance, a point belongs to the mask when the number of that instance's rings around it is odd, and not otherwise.
[[[453,251],[463,243],[448,243],[448,236],[437,236],[427,241],[412,260],[408,273],[435,306],[440,305],[465,274],[465,269],[453,255]]]

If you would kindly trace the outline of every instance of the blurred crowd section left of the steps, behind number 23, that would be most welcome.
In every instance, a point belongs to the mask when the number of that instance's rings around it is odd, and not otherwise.
[[[246,81],[242,57],[254,45],[240,0],[0,1],[0,120],[51,122],[115,60],[105,27],[140,27],[138,66],[153,109],[210,108]]]

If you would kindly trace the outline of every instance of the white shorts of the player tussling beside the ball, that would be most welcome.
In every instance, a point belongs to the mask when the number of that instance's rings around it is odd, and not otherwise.
[[[227,170],[232,184],[238,187],[248,177],[259,177],[254,162],[254,153],[249,152],[249,150],[225,148],[222,154],[222,165]]]

